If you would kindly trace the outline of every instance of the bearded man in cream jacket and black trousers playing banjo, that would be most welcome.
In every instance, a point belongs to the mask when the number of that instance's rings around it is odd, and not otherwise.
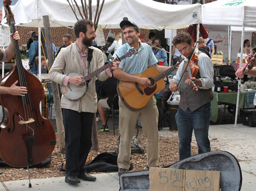
[[[86,93],[79,99],[68,99],[64,95],[61,97],[66,144],[65,181],[70,184],[80,183],[79,179],[96,180],[96,177],[88,175],[84,169],[91,148],[94,113],[97,111],[96,76],[86,83],[83,82],[83,76],[104,66],[101,50],[91,47],[96,37],[93,22],[87,19],[77,21],[74,33],[77,38],[75,43],[61,49],[49,71],[52,81],[67,87],[62,93],[69,89],[69,85],[86,88]],[[118,66],[118,61],[113,62],[108,69],[99,73],[97,78],[106,80]],[[69,76],[69,73],[82,75]]]

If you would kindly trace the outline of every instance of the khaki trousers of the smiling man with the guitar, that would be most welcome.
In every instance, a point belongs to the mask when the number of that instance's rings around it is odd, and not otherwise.
[[[119,133],[120,145],[117,157],[119,168],[129,169],[131,158],[131,139],[140,116],[143,134],[146,137],[147,165],[156,167],[159,157],[158,146],[158,109],[153,96],[145,107],[132,111],[119,99]]]

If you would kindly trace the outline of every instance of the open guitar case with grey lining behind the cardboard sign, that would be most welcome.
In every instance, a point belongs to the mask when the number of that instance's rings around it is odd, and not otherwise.
[[[237,159],[226,151],[213,151],[191,156],[165,168],[186,170],[220,171],[222,191],[239,191],[242,186],[242,173]],[[128,172],[120,175],[121,191],[148,191],[149,171]]]

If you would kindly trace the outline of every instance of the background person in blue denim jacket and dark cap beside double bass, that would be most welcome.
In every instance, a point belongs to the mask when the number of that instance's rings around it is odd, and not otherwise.
[[[38,65],[35,62],[35,57],[38,56],[38,33],[33,34],[33,42],[29,48],[29,72],[38,74]]]

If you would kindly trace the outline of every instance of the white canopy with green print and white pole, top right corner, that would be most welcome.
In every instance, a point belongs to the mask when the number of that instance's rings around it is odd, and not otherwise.
[[[202,23],[211,25],[226,25],[242,27],[241,50],[243,49],[244,28],[256,27],[255,0],[217,0],[202,5]],[[230,35],[230,34],[229,34]],[[240,67],[242,66],[242,51]],[[234,127],[237,127],[241,80],[238,82],[237,107]]]

